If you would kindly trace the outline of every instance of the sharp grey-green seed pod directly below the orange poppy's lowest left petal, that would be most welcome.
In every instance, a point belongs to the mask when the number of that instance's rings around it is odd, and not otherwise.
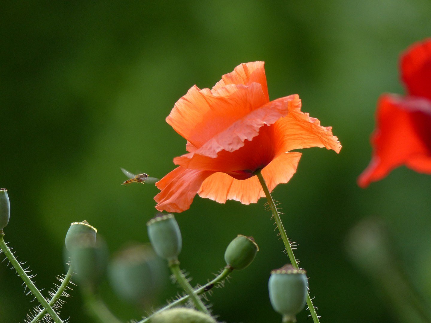
[[[181,232],[173,214],[159,214],[147,222],[148,237],[156,254],[168,261],[181,252]]]

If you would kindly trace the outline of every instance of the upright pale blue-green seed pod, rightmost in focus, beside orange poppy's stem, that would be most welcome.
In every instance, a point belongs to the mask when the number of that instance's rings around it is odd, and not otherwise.
[[[268,288],[272,307],[283,315],[283,322],[296,322],[296,315],[304,308],[307,295],[305,270],[295,269],[291,264],[272,270]]]

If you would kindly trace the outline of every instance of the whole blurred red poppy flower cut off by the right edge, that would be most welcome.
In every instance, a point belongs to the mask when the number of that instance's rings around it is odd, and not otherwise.
[[[401,165],[431,174],[431,39],[410,47],[400,69],[407,95],[378,100],[372,160],[358,179],[362,188]]]

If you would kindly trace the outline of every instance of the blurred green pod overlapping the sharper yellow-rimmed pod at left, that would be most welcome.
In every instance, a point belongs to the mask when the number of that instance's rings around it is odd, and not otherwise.
[[[76,278],[81,286],[92,289],[97,286],[104,273],[108,261],[106,243],[100,236],[94,243],[91,240],[81,240],[69,252]]]

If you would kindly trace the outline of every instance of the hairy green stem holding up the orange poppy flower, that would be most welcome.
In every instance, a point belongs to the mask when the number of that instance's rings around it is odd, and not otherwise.
[[[271,193],[269,193],[268,186],[266,186],[265,179],[262,176],[260,171],[256,172],[257,178],[259,178],[259,182],[262,185],[263,192],[265,193],[266,199],[268,200],[269,207],[272,211],[272,216],[275,219],[275,223],[277,224],[278,231],[280,231],[281,239],[283,240],[284,247],[286,248],[287,255],[289,256],[290,262],[294,268],[299,269],[298,262],[295,258],[294,252],[292,250],[292,246],[290,245],[289,238],[287,238],[286,230],[284,230],[283,223],[281,223],[280,214],[278,213],[277,207],[272,199]],[[307,305],[310,310],[311,316],[313,318],[314,323],[319,323],[319,317],[317,316],[316,309],[313,306],[313,302],[311,301],[310,293],[307,291]]]

